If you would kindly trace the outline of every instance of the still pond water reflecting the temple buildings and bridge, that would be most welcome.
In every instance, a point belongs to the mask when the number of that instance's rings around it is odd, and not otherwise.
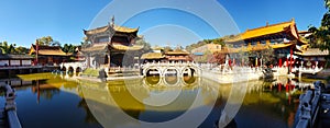
[[[209,128],[216,126],[227,105],[239,108],[230,123],[232,127],[285,128],[294,124],[302,92],[286,86],[285,80],[279,81],[280,85],[263,81],[219,84],[201,78],[177,79],[88,82],[37,73],[19,75],[10,83],[16,91],[18,115],[24,128],[178,125]],[[229,100],[238,95],[243,95],[242,102]]]

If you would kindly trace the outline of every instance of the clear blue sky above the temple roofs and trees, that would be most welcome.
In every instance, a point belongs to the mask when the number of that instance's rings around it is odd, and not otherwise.
[[[125,4],[143,3],[132,1]],[[175,0],[167,1],[180,4]],[[111,0],[2,0],[0,42],[7,40],[18,46],[30,47],[37,37],[51,35],[62,44],[79,44],[84,37],[82,30],[89,28],[97,14],[110,2]],[[323,0],[218,0],[218,2],[232,16],[241,32],[263,26],[266,22],[270,24],[286,22],[293,18],[298,30],[307,30],[310,24],[319,26],[326,12]],[[125,7],[118,9],[123,12],[129,10]],[[207,8],[202,11],[209,15],[218,14]],[[110,13],[107,15],[108,21],[112,15],[121,19],[119,14]],[[108,21],[105,20],[99,25],[106,25]],[[210,24],[198,15],[166,8],[135,14],[123,25],[140,27],[140,34],[145,35],[147,42],[160,46],[177,44],[186,46],[201,38],[223,35],[216,33]]]

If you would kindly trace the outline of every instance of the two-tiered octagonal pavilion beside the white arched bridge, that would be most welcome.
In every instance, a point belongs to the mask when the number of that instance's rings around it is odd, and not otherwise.
[[[138,28],[119,26],[112,22],[106,26],[84,30],[88,45],[82,46],[81,51],[86,57],[89,68],[107,68],[133,66],[139,60],[139,50],[143,48],[135,45]]]

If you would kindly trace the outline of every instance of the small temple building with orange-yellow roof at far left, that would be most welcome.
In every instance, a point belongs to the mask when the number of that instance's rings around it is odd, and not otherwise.
[[[69,56],[61,49],[61,46],[32,44],[29,55],[34,56],[33,65],[35,66],[58,66],[69,60]]]

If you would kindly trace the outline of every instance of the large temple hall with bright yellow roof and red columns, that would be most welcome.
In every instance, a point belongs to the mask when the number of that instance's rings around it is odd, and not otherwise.
[[[246,30],[234,37],[227,39],[227,47],[233,59],[238,53],[262,51],[273,49],[276,61],[273,62],[279,67],[288,66],[290,59],[297,59],[295,53],[301,53],[308,45],[308,42],[299,37],[295,20],[265,26]],[[262,57],[250,56],[252,66],[260,66]],[[240,60],[237,60],[240,61]],[[244,61],[244,60],[241,60]]]

